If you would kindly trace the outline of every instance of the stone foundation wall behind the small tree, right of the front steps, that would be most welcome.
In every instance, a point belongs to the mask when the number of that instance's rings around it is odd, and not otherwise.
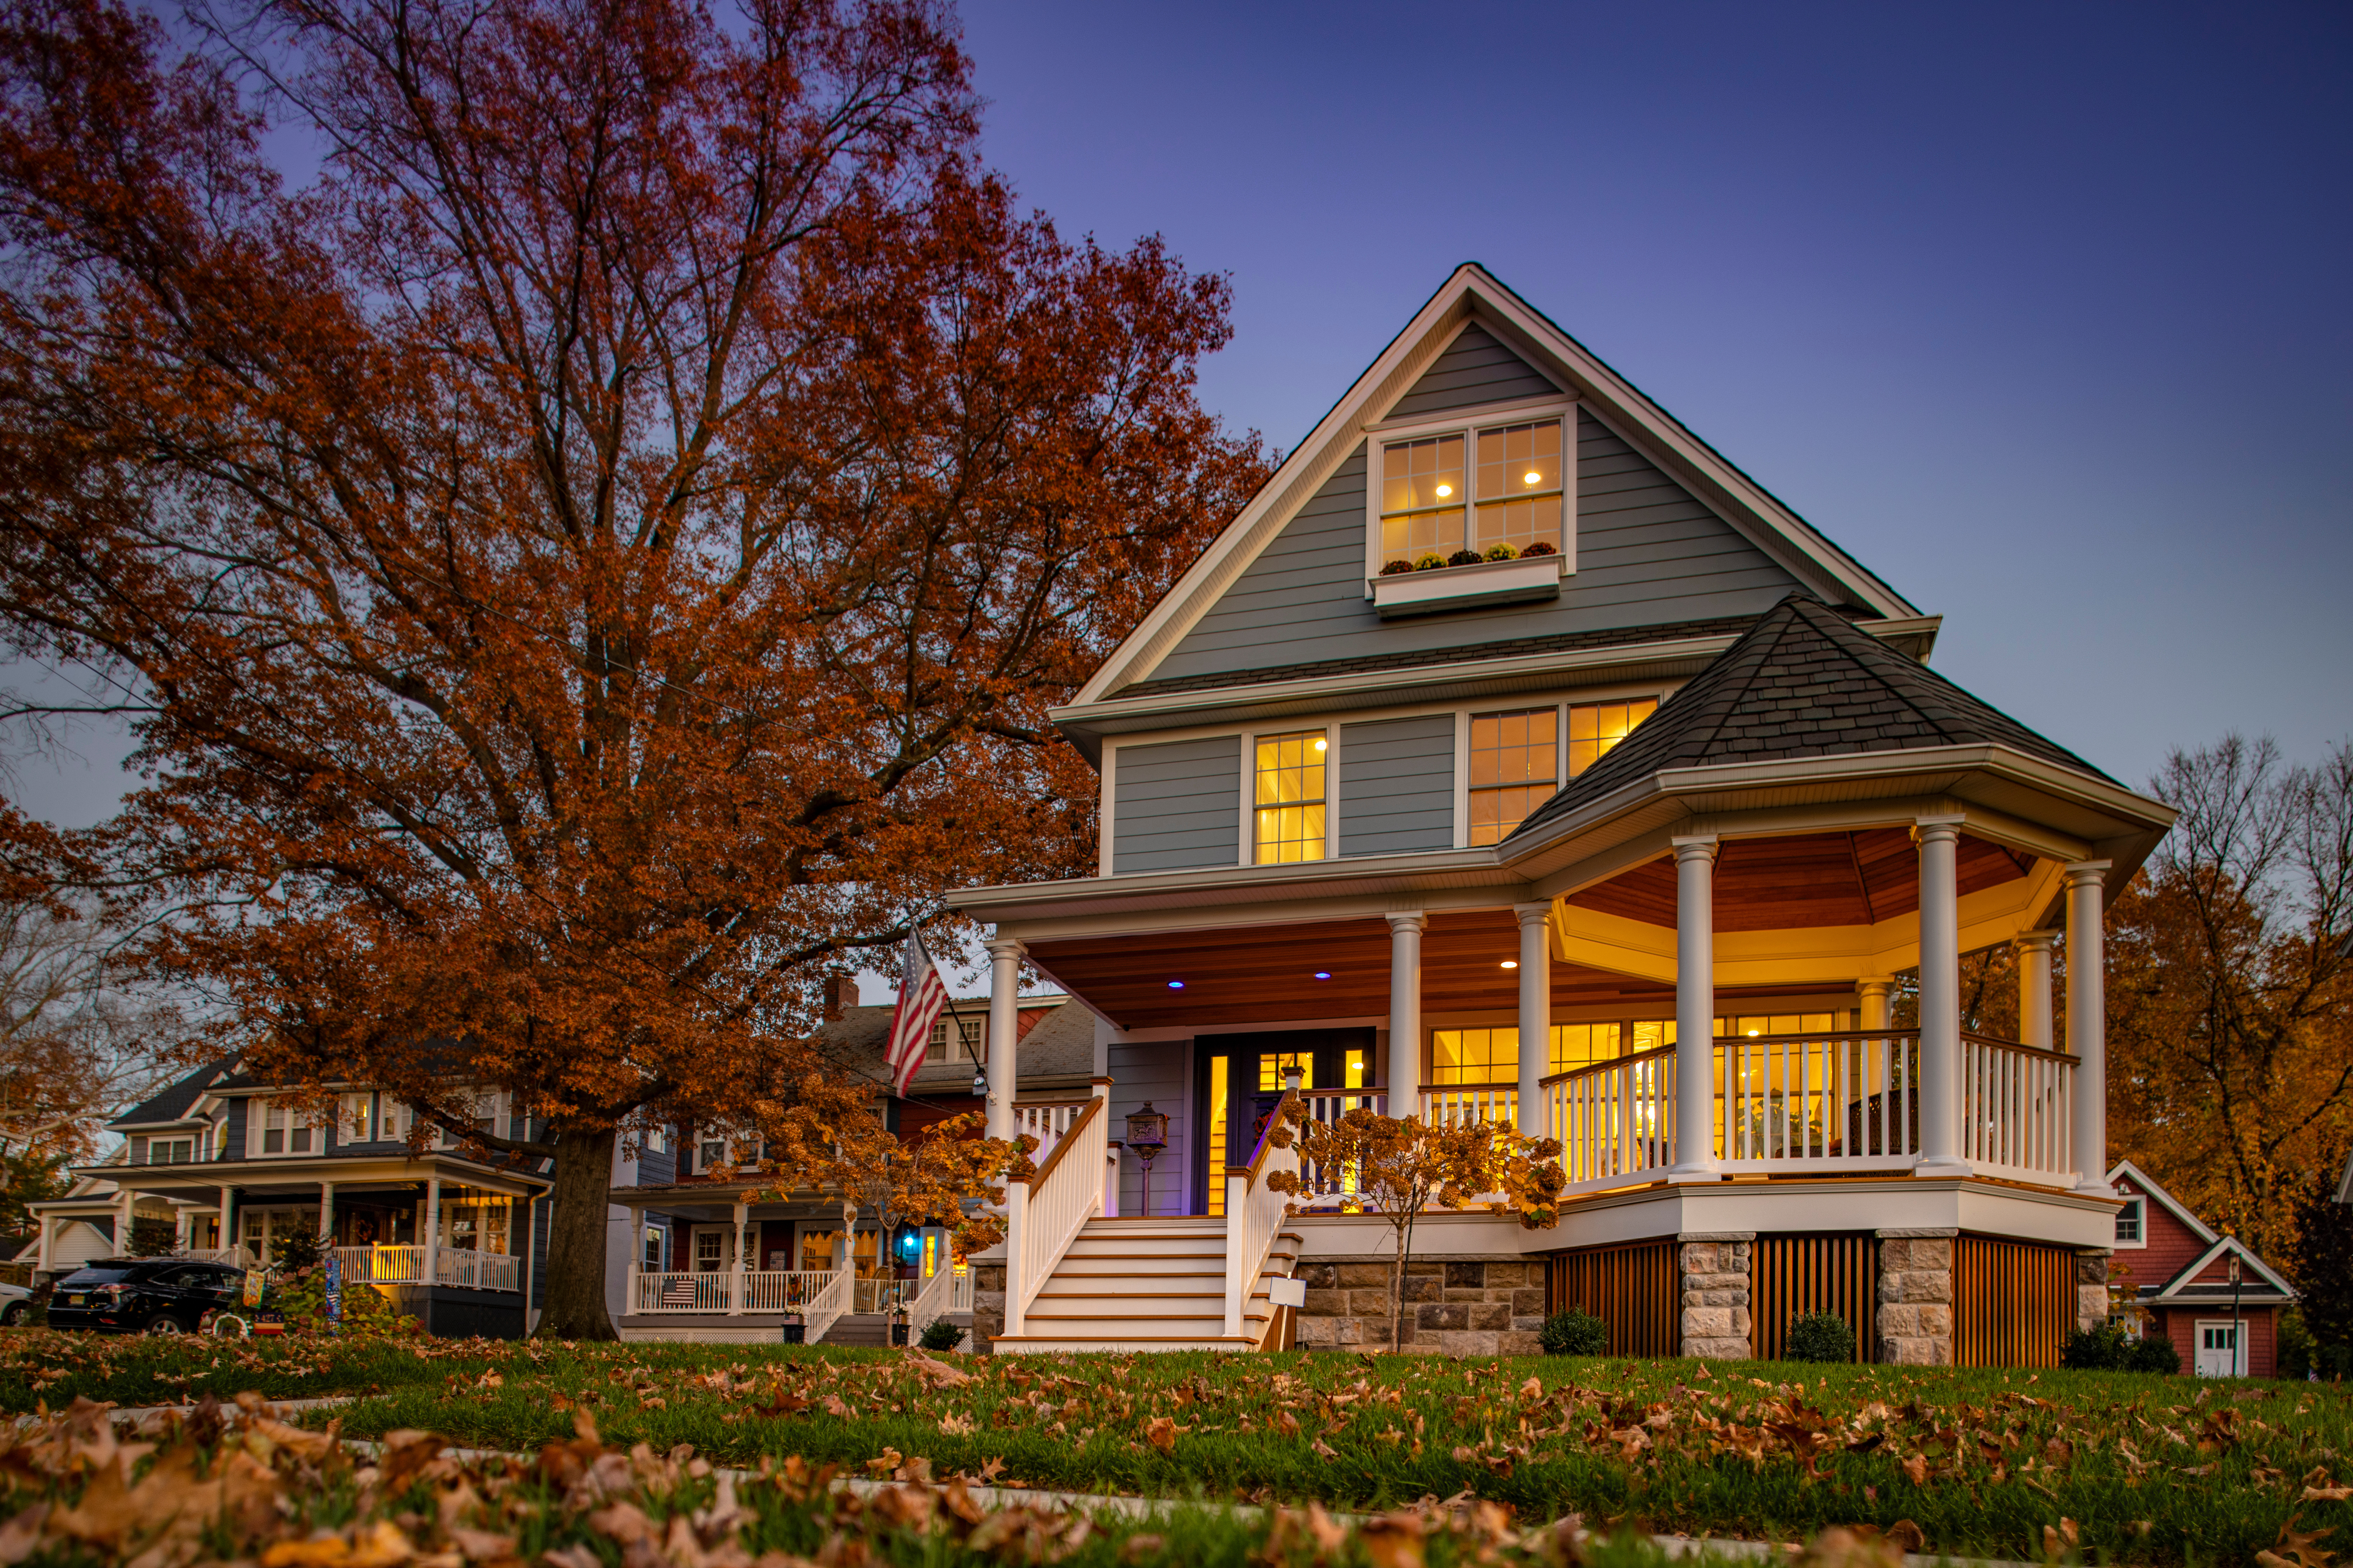
[[[1301,1262],[1299,1349],[1388,1349],[1388,1260]],[[1544,1260],[1414,1258],[1400,1347],[1438,1356],[1534,1356],[1544,1347]]]

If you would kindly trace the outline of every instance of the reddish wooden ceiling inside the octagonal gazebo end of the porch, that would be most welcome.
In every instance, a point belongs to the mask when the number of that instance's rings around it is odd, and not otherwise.
[[[2033,856],[1960,835],[1960,891],[2017,882]],[[1652,926],[1675,924],[1675,863],[1645,860],[1609,882],[1569,893],[1598,910]],[[1901,827],[1809,832],[1786,839],[1727,839],[1715,853],[1718,931],[1873,926],[1920,910],[1920,851]]]

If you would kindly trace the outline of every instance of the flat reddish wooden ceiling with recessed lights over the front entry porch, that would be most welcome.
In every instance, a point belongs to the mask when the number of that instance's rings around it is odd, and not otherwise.
[[[1064,943],[1031,943],[1068,990],[1122,1030],[1388,1013],[1388,922],[1235,926]],[[1421,1013],[1511,1013],[1520,1006],[1520,926],[1508,910],[1442,910],[1421,933]],[[1329,980],[1318,980],[1327,971]],[[1169,980],[1184,980],[1172,990]],[[1734,992],[1722,997],[1774,994]],[[1666,1018],[1675,987],[1553,961],[1553,1011],[1631,1001]]]

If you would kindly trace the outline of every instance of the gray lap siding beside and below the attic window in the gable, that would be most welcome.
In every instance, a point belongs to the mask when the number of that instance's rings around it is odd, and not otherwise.
[[[1360,447],[1151,679],[1619,625],[1760,616],[1798,581],[1591,414],[1577,416],[1577,571],[1560,597],[1384,623],[1365,597]]]

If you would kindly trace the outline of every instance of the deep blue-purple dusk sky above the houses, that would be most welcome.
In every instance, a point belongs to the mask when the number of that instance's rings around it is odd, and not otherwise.
[[[2353,733],[2353,9],[965,9],[986,155],[1233,277],[1289,447],[1485,261],[2111,773]],[[89,820],[89,769],[24,771]]]

